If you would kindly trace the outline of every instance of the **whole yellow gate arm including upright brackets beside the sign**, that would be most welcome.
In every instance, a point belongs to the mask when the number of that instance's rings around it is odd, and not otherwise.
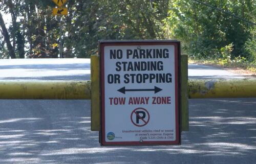
[[[188,98],[256,98],[256,78],[187,80],[186,55],[181,56],[180,75],[182,131],[188,131]],[[91,99],[91,130],[99,131],[99,58],[91,56],[91,81],[0,80],[0,99]]]

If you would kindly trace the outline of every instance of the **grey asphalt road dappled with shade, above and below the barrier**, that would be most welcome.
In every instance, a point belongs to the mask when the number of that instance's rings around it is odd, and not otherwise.
[[[189,65],[189,78],[243,78]],[[0,60],[0,80],[89,80],[88,59]],[[255,163],[256,98],[189,100],[180,146],[100,147],[90,100],[0,100],[0,163]]]

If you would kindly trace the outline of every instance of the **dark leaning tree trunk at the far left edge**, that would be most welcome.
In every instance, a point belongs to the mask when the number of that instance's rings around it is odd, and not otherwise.
[[[13,46],[11,44],[10,36],[9,36],[9,33],[8,33],[7,29],[6,29],[5,21],[4,21],[3,17],[2,17],[1,12],[0,12],[0,26],[2,28],[2,32],[3,32],[4,38],[5,38],[5,42],[7,44],[8,53],[9,53],[9,55],[10,55],[10,57],[12,59],[15,59],[16,58],[15,51],[14,51]]]

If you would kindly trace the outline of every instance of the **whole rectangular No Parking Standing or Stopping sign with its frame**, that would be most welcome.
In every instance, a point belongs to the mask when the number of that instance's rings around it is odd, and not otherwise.
[[[178,145],[179,41],[99,41],[100,143]]]

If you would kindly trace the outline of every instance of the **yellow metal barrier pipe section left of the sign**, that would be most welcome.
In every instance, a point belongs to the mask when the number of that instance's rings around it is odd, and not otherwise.
[[[0,81],[0,99],[91,99],[91,81]]]

